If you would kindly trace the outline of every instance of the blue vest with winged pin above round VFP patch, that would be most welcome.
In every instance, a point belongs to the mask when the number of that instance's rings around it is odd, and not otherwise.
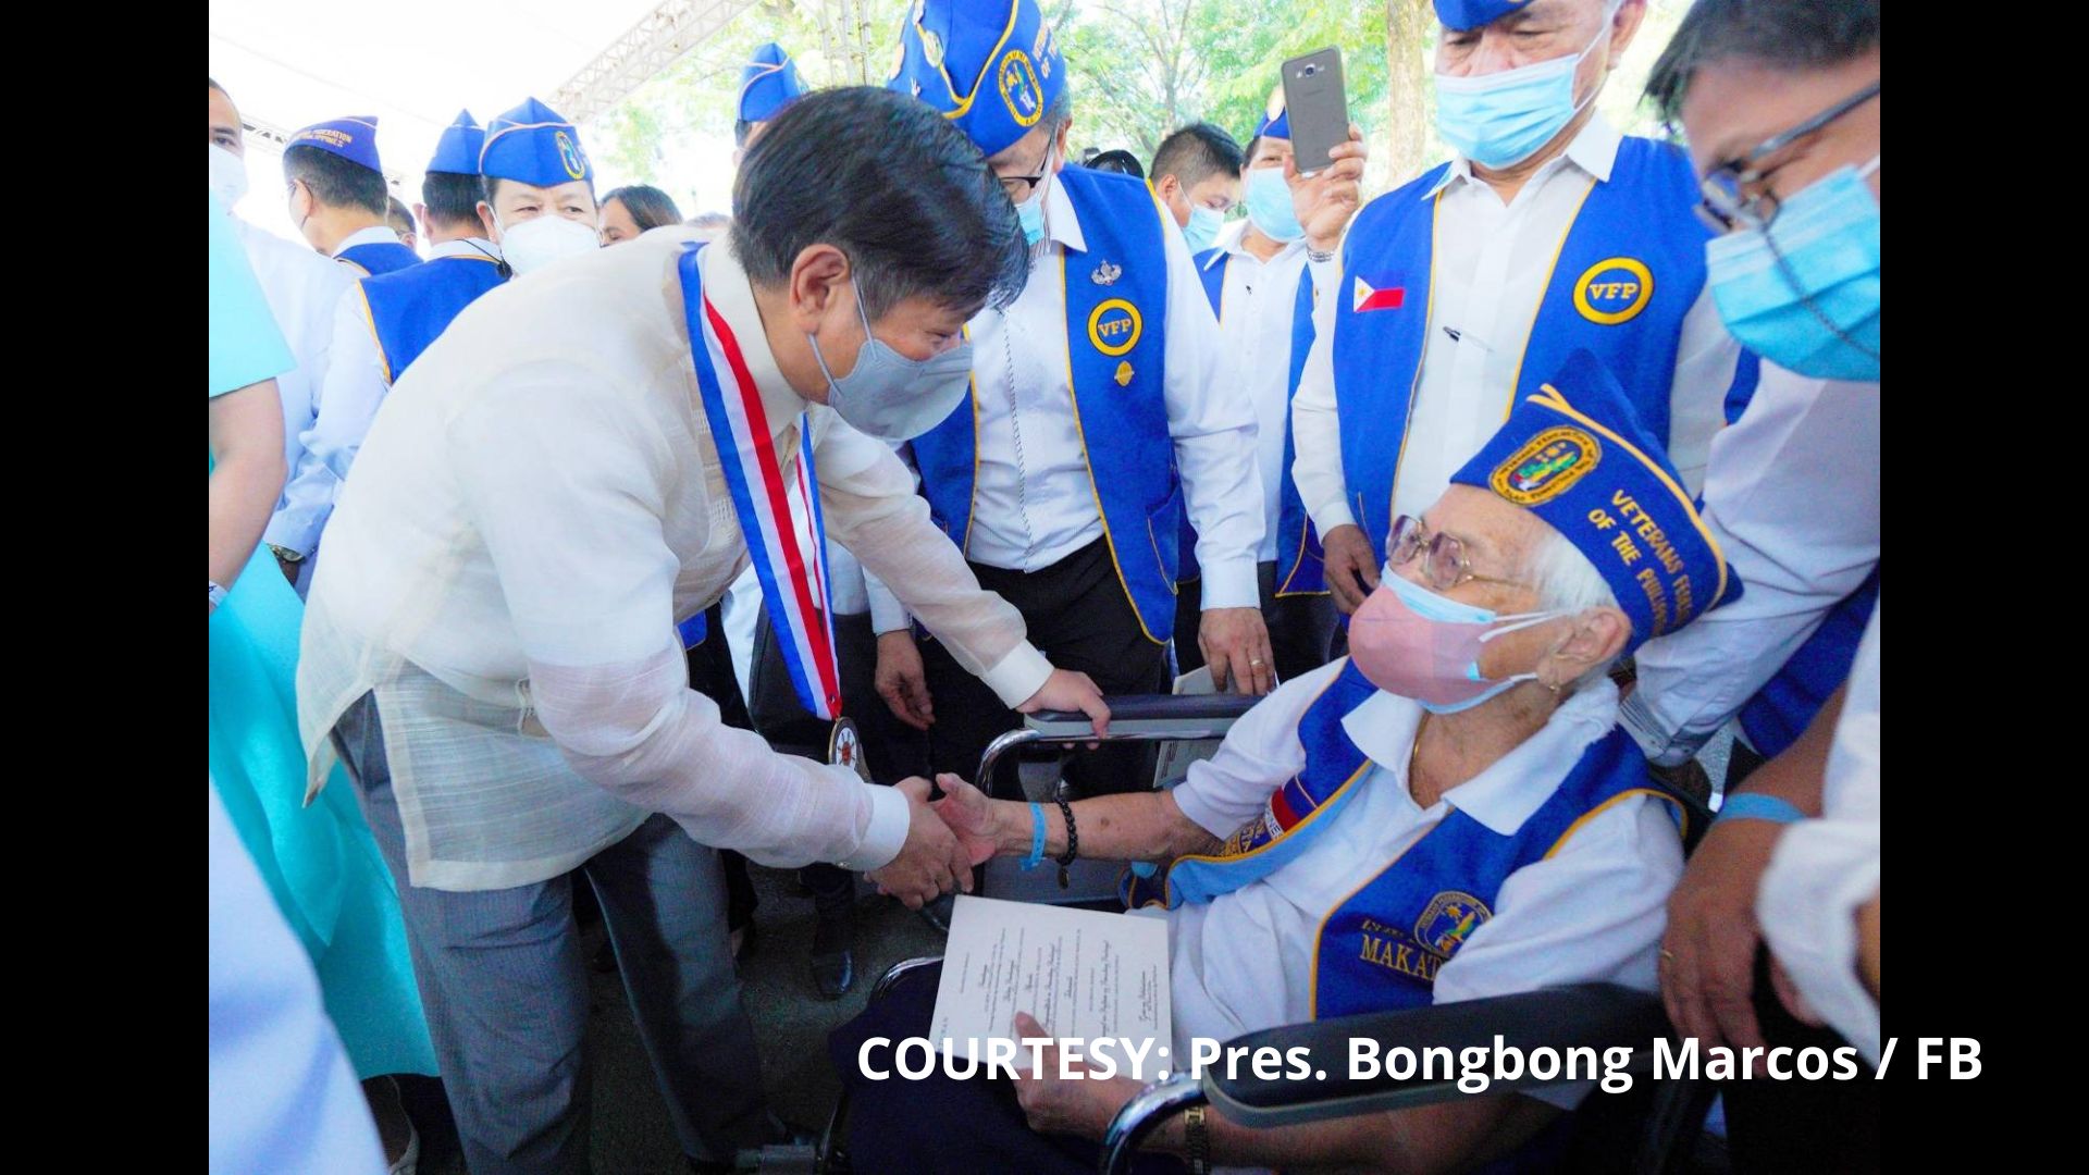
[[[1174,631],[1182,485],[1164,399],[1168,253],[1161,209],[1145,182],[1067,167],[1057,176],[1080,217],[1086,251],[1061,253],[1067,376],[1088,485],[1118,581],[1147,638]],[[1170,230],[1172,232],[1172,230]],[[913,439],[930,519],[965,550],[978,485],[980,385]]]

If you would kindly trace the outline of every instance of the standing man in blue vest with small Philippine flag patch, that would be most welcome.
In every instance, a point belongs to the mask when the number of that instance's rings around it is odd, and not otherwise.
[[[1293,479],[1343,613],[1377,585],[1391,519],[1433,502],[1573,349],[1617,372],[1692,491],[1730,395],[1753,389],[1705,293],[1690,161],[1596,113],[1646,0],[1435,10],[1456,155],[1356,215],[1291,406]]]

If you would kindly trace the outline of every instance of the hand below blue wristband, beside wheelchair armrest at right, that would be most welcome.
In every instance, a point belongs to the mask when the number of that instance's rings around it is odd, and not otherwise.
[[[1759,1047],[1755,1022],[1755,893],[1782,824],[1723,820],[1711,826],[1684,880],[1669,895],[1661,937],[1661,1001],[1669,1020],[1703,1045]]]

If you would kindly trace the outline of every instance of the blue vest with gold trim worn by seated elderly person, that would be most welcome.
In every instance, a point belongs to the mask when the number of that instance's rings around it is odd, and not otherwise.
[[[1214,855],[1178,857],[1151,880],[1126,876],[1128,903],[1212,901],[1297,859],[1372,767],[1341,728],[1372,692],[1356,663],[1345,663],[1299,717],[1306,767],[1270,794],[1262,817]],[[1636,794],[1669,799],[1648,786],[1646,757],[1632,736],[1611,728],[1512,834],[1502,836],[1452,807],[1322,918],[1314,1018],[1429,1006],[1437,970],[1494,916],[1502,882],[1556,851],[1590,815]],[[1671,809],[1682,820],[1673,801]]]

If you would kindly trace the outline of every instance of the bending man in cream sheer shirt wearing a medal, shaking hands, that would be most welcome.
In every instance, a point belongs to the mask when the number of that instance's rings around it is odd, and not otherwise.
[[[785,485],[1003,702],[1107,721],[877,439],[963,397],[965,320],[1024,278],[978,153],[913,100],[808,94],[748,151],[731,236],[691,238],[660,228],[460,314],[372,424],[305,613],[311,780],[347,757],[478,1175],[587,1162],[572,870],[706,1171],[775,1137],[712,849],[834,861],[911,905],[969,889],[925,780],[775,755],[689,688],[677,623],[752,558],[802,698],[838,713],[825,575],[800,554],[823,535],[800,544]]]

